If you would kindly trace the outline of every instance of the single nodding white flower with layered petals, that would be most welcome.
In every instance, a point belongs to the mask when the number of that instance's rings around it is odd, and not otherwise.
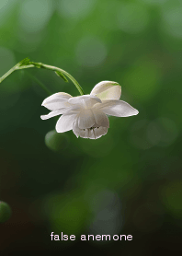
[[[108,133],[107,115],[127,117],[139,113],[127,102],[119,100],[120,94],[119,84],[110,81],[98,83],[90,95],[72,97],[58,92],[43,100],[41,105],[51,112],[40,118],[45,120],[62,114],[56,123],[57,133],[73,130],[77,137],[97,139]]]

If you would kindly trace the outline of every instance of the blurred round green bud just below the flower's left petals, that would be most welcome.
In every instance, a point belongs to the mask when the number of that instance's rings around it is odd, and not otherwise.
[[[69,141],[65,134],[58,134],[55,130],[52,130],[46,134],[45,144],[52,151],[62,152],[69,145]]]

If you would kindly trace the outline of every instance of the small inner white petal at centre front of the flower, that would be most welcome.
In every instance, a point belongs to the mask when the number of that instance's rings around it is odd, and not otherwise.
[[[94,114],[91,110],[82,110],[78,117],[78,127],[80,129],[90,128],[95,124]]]

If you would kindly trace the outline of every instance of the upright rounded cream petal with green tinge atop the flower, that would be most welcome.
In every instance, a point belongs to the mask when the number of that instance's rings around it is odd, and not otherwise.
[[[120,99],[121,87],[117,82],[102,81],[92,89],[90,95],[95,95],[101,100]]]

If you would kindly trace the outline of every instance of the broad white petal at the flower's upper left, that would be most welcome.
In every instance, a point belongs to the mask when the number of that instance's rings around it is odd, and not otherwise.
[[[46,107],[50,111],[67,108],[70,104],[67,102],[72,96],[65,92],[54,93],[50,97],[43,100],[41,106]]]

